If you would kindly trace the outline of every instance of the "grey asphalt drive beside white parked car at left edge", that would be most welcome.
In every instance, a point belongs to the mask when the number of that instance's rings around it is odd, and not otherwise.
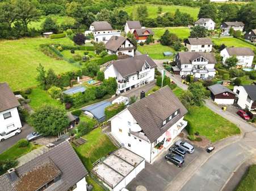
[[[30,127],[28,124],[24,124],[22,127],[22,132],[16,136],[10,137],[7,140],[0,142],[0,154],[3,153],[6,149],[14,145],[17,141],[22,138],[26,138],[28,134],[33,132],[33,128]]]

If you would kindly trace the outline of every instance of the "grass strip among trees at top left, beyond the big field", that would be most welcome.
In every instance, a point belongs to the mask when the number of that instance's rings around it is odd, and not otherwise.
[[[50,17],[56,22],[57,25],[61,24],[74,24],[75,20],[70,18],[69,16],[58,16],[58,15],[50,15]],[[28,24],[29,28],[41,29],[41,25],[43,24],[44,20],[46,19],[45,16],[42,16],[39,21],[31,22]]]

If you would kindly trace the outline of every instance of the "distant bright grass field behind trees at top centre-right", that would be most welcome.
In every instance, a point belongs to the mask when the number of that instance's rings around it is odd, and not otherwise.
[[[133,19],[137,19],[137,7],[140,5],[126,6],[124,10],[128,12],[129,15],[132,15]],[[148,18],[157,18],[158,15],[163,15],[166,12],[174,14],[177,9],[181,12],[186,12],[191,15],[192,18],[196,20],[198,18],[199,7],[187,7],[187,6],[176,6],[176,5],[146,5],[148,8]],[[158,14],[158,7],[162,7],[162,13]]]

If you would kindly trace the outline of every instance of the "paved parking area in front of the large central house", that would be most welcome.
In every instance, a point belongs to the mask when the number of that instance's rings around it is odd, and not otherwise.
[[[196,147],[193,154],[186,155],[184,166],[178,168],[165,160],[164,156],[168,151],[164,151],[153,164],[146,163],[145,169],[129,183],[127,188],[134,191],[137,186],[142,185],[148,191],[164,190],[179,172],[186,171],[186,168],[203,152],[203,149]]]

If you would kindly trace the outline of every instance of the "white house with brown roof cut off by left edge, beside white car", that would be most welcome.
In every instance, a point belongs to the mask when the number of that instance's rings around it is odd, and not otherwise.
[[[10,132],[22,128],[20,122],[18,99],[7,83],[0,83],[0,132]]]

